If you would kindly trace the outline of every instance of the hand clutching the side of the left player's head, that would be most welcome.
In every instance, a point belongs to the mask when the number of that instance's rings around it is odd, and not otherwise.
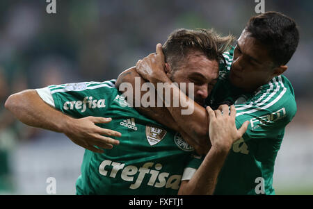
[[[162,44],[157,44],[156,51],[156,53],[150,53],[150,55],[142,60],[138,60],[136,63],[138,74],[151,83],[162,82],[162,78],[165,80],[168,78],[164,72],[165,58],[162,51]]]

